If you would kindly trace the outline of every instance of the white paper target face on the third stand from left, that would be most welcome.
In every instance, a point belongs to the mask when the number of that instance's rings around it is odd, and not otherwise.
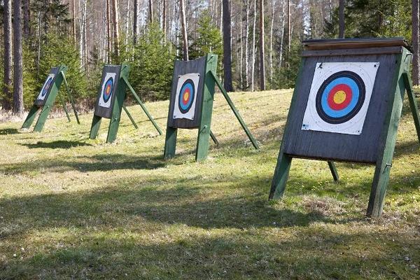
[[[187,118],[194,120],[200,73],[189,73],[179,76],[174,104],[174,119]]]

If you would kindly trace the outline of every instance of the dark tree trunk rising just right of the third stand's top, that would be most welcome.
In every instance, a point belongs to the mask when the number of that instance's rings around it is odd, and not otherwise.
[[[227,92],[233,91],[232,86],[232,45],[230,41],[230,1],[223,0],[223,85]]]

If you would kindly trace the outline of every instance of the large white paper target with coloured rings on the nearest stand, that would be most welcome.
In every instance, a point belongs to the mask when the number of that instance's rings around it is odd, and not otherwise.
[[[317,63],[302,130],[360,135],[379,62]]]

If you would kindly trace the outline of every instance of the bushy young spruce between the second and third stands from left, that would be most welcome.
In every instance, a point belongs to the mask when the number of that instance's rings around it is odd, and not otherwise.
[[[165,42],[165,35],[158,23],[153,22],[145,34],[138,38],[129,62],[132,66],[130,83],[137,93],[149,100],[169,98],[174,54],[170,43]]]

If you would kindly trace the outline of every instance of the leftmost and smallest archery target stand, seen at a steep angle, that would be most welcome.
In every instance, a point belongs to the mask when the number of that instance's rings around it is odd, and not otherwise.
[[[43,126],[45,125],[45,121],[47,120],[48,115],[50,114],[52,106],[54,106],[55,98],[57,97],[57,95],[59,97],[59,101],[63,106],[64,112],[66,113],[67,120],[69,120],[70,122],[70,116],[69,112],[66,109],[66,104],[64,103],[63,97],[59,94],[59,88],[61,87],[63,82],[66,86],[67,94],[69,95],[74,116],[76,116],[77,123],[80,125],[80,121],[78,119],[76,111],[76,106],[74,106],[73,97],[71,96],[69,85],[67,84],[66,76],[64,74],[66,73],[66,71],[67,66],[64,65],[54,67],[51,69],[41,89],[41,92],[39,92],[38,97],[36,97],[35,99],[34,105],[29,110],[28,116],[22,125],[22,129],[28,129],[29,127],[31,127],[32,123],[34,123],[34,120],[36,118],[36,113],[38,113],[39,109],[42,109],[34,127],[34,132],[41,132],[43,130]]]

